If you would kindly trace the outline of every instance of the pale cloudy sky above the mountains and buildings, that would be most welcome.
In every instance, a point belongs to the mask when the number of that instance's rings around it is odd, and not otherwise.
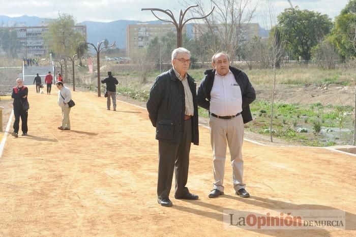
[[[150,11],[141,11],[141,8],[170,9],[179,17],[179,10],[185,10],[188,6],[184,1],[192,4],[189,0],[0,0],[0,15],[14,16],[38,16],[56,18],[58,11],[73,15],[77,22],[115,20],[156,20]],[[210,0],[203,0],[210,7]],[[247,0],[243,0],[247,1]],[[258,1],[258,0],[252,0]],[[257,16],[252,22],[259,22],[265,0],[259,0]],[[276,15],[290,5],[287,0],[270,0],[273,3]],[[348,3],[348,0],[291,0],[292,5],[299,6],[301,10],[308,9],[321,14],[328,14],[334,19]]]

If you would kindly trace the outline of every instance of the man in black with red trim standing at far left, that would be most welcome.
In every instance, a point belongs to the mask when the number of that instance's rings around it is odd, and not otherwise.
[[[21,130],[22,136],[27,135],[27,116],[28,110],[23,109],[23,103],[27,101],[28,95],[28,88],[23,85],[22,79],[16,79],[16,85],[12,88],[11,98],[14,99],[12,103],[14,106],[14,115],[15,115],[15,122],[14,122],[14,131],[11,133],[14,137],[18,137],[18,130],[20,124],[20,117],[21,117]]]

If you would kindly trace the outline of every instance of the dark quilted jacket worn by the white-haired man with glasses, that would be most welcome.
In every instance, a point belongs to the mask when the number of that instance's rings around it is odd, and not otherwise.
[[[196,83],[188,75],[188,83],[193,96],[194,116],[192,117],[192,143],[199,144],[198,105]],[[173,69],[159,75],[152,85],[146,103],[152,125],[156,127],[156,139],[179,142],[183,133],[185,94],[184,86]]]

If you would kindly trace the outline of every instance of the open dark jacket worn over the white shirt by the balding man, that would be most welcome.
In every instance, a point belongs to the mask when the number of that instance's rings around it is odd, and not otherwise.
[[[256,99],[255,89],[251,85],[247,75],[236,68],[230,67],[230,71],[235,77],[236,82],[240,85],[241,95],[242,95],[242,118],[244,124],[252,120],[250,105]],[[198,105],[204,109],[210,109],[210,93],[213,88],[215,78],[215,69],[206,70],[205,77],[201,81],[198,88]]]

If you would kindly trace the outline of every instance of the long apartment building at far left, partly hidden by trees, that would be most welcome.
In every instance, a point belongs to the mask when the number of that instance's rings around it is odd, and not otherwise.
[[[0,27],[0,29],[15,30],[21,49],[19,57],[40,57],[47,53],[44,43],[44,35],[48,34],[48,26],[14,26]],[[86,26],[76,25],[74,31],[80,32],[86,37]]]

